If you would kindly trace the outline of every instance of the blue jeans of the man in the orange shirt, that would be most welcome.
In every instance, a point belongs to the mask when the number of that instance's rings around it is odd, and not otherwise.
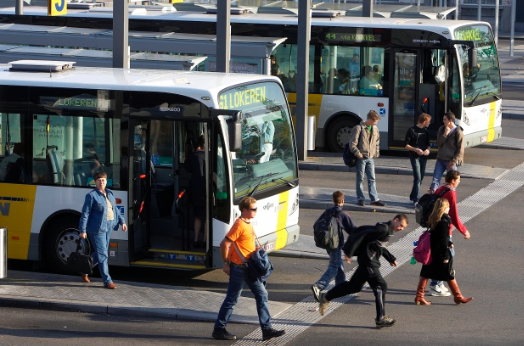
[[[255,295],[257,302],[257,313],[260,327],[262,329],[271,328],[271,316],[269,315],[269,307],[267,303],[267,291],[264,285],[258,281],[250,281],[247,277],[247,272],[243,267],[231,265],[231,272],[229,276],[229,285],[227,286],[227,293],[220,311],[218,312],[215,328],[225,328],[227,321],[233,313],[233,308],[238,302],[244,283]]]

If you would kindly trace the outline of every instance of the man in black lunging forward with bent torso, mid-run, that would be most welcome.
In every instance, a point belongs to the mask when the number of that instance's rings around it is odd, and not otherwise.
[[[322,316],[331,300],[360,292],[367,282],[375,295],[377,309],[375,324],[377,328],[390,327],[395,324],[395,320],[386,316],[384,311],[388,286],[380,274],[380,256],[384,256],[393,267],[397,266],[395,256],[382,246],[382,242],[388,241],[394,232],[402,231],[407,225],[408,218],[406,215],[398,214],[391,221],[379,222],[375,226],[357,228],[344,244],[342,250],[348,263],[351,263],[352,256],[357,256],[358,268],[349,281],[320,294],[319,304]]]

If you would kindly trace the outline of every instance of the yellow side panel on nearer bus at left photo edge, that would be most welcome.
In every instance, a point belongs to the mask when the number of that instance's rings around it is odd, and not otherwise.
[[[27,259],[36,186],[1,184],[0,226],[7,228],[7,255],[12,259]]]

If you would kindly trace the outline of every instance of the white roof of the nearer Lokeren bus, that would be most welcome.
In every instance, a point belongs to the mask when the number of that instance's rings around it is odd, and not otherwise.
[[[10,67],[10,64],[0,64],[2,86],[165,92],[198,99],[208,106],[216,106],[216,95],[224,89],[257,82],[280,83],[277,77],[240,73],[98,67],[76,67],[61,72],[27,72],[10,70]],[[206,100],[206,97],[210,100]]]

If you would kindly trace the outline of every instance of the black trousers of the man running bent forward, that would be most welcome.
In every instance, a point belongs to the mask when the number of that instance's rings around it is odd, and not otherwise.
[[[373,294],[375,294],[375,305],[377,308],[376,318],[377,320],[381,319],[385,314],[388,284],[382,277],[382,274],[380,274],[379,268],[358,266],[355,274],[353,274],[349,281],[336,285],[326,293],[326,299],[333,300],[348,294],[360,292],[366,281],[373,290]]]

